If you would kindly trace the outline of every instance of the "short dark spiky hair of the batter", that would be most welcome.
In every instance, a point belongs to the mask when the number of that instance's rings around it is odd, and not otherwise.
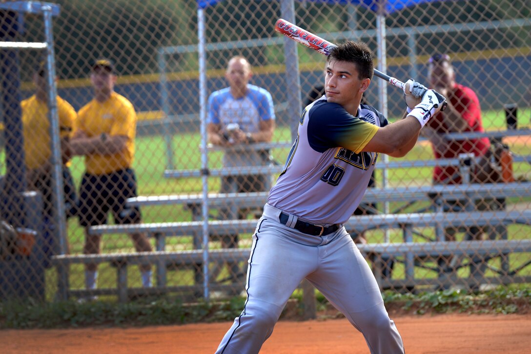
[[[358,79],[372,79],[374,75],[374,60],[371,49],[363,42],[347,40],[333,48],[327,61],[333,60],[356,64]]]

